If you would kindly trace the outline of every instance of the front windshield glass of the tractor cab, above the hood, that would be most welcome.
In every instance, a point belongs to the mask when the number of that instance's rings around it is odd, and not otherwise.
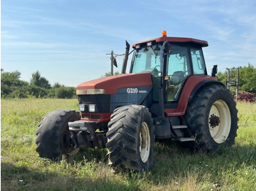
[[[151,72],[154,76],[162,74],[162,45],[154,44],[152,47],[142,47],[135,50],[132,61],[132,73]]]

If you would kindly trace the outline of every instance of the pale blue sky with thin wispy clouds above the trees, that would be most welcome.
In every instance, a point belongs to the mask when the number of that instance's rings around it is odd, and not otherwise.
[[[256,1],[1,0],[1,69],[30,81],[76,86],[110,71],[111,50],[167,36],[208,41],[208,73],[218,64],[256,66]],[[123,58],[119,57],[121,71]]]

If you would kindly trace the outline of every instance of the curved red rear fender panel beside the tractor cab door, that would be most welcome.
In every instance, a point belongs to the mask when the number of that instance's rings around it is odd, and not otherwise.
[[[185,82],[184,87],[182,87],[180,97],[178,99],[178,107],[176,109],[165,109],[165,116],[181,116],[184,115],[187,109],[187,104],[189,101],[189,96],[196,85],[205,80],[217,81],[216,77],[209,77],[206,75],[195,75],[191,76]]]

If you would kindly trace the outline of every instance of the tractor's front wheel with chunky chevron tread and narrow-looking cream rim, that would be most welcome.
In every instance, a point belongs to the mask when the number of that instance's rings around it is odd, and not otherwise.
[[[128,168],[148,171],[154,158],[154,126],[145,106],[116,109],[108,123],[109,165],[116,171]]]

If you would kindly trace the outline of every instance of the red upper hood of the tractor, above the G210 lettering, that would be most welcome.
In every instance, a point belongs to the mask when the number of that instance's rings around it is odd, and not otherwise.
[[[116,94],[117,90],[129,87],[153,87],[151,73],[121,74],[94,79],[78,85],[77,92],[86,94],[86,90],[96,89],[105,90],[105,94]]]

